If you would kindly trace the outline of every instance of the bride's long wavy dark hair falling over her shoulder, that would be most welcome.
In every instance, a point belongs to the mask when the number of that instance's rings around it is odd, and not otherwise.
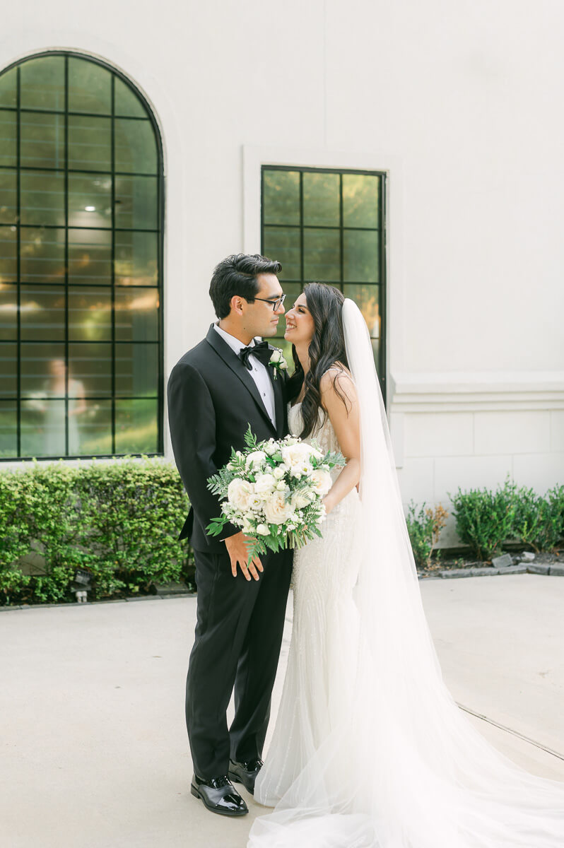
[[[321,377],[335,364],[349,368],[343,334],[343,294],[338,288],[327,283],[309,282],[304,286],[304,295],[313,318],[314,333],[308,350],[310,371],[305,376],[305,393],[301,408],[304,429],[299,433],[301,438],[307,438],[314,431],[320,409],[327,415],[321,404]],[[292,345],[292,356],[295,371],[288,380],[290,401],[298,397],[304,383],[304,369],[295,345]],[[346,407],[346,400],[338,388],[337,378],[338,374],[333,379],[333,386]]]

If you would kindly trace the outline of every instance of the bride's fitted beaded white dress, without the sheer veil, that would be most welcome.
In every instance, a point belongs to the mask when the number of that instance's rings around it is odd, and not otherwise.
[[[323,418],[325,417],[325,421]],[[301,404],[288,410],[290,432],[303,427]],[[315,438],[323,453],[340,451],[329,416],[320,410]],[[338,477],[340,468],[332,470]],[[354,488],[329,513],[322,538],[293,555],[293,632],[282,700],[254,797],[275,806],[321,743],[346,719],[355,679],[360,563],[360,499]]]

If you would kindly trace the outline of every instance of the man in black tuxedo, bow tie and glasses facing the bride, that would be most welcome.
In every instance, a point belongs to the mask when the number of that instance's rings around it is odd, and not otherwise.
[[[194,550],[198,611],[188,667],[186,723],[194,774],[191,792],[212,812],[248,812],[231,783],[249,792],[270,715],[282,643],[291,552],[270,551],[247,566],[246,536],[226,524],[221,538],[206,527],[221,516],[207,480],[244,449],[250,424],[259,439],[288,432],[286,373],[270,364],[284,314],[279,262],[258,254],[228,256],[216,266],[209,295],[219,318],[204,341],[176,363],[168,382],[170,436],[191,502],[180,538]],[[235,717],[226,709],[235,688]]]

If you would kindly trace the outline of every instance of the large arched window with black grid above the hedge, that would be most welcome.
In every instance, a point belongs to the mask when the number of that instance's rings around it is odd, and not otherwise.
[[[0,458],[163,452],[163,160],[112,68],[0,74]]]

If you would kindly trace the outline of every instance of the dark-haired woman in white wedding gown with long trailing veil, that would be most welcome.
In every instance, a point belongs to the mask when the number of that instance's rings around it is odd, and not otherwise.
[[[443,683],[360,310],[310,283],[286,318],[290,430],[347,463],[322,538],[294,555],[288,669],[254,786],[275,809],[248,848],[561,848],[564,784],[491,747]]]

